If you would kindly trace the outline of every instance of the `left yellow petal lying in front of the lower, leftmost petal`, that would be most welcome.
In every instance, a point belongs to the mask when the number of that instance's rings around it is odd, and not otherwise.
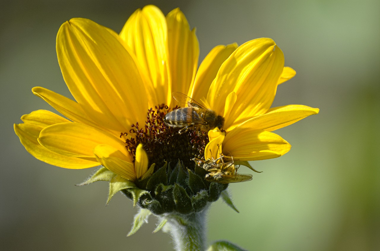
[[[107,144],[128,155],[120,138],[79,123],[48,126],[41,131],[38,142],[53,152],[86,160],[95,160],[93,149],[100,144]]]

